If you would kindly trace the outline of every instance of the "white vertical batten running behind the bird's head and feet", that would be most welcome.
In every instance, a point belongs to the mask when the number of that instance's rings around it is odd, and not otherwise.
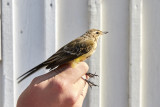
[[[89,29],[95,28],[100,29],[100,0],[89,0],[88,1],[88,14],[89,14]],[[101,40],[98,41],[96,52],[89,59],[89,66],[91,73],[96,73],[100,75],[100,63],[101,63]],[[93,79],[95,84],[100,86],[100,78]],[[93,81],[91,80],[91,81]],[[90,107],[99,107],[100,105],[100,87],[93,87],[89,89],[89,106]]]

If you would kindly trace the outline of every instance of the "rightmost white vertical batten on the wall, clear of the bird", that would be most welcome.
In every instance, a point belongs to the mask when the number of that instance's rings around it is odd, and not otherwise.
[[[129,107],[141,106],[141,3],[142,0],[130,1]]]

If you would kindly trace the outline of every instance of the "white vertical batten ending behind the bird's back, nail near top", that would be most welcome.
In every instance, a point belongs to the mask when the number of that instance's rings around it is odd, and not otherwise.
[[[45,52],[46,58],[56,50],[56,0],[44,1],[45,3]]]

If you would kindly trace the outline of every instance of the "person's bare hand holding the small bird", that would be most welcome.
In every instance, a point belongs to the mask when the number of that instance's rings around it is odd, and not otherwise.
[[[17,107],[82,107],[88,84],[81,77],[88,79],[87,71],[88,65],[80,62],[36,77],[20,95]]]

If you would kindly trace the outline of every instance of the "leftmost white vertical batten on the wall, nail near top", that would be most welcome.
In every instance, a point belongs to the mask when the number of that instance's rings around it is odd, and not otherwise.
[[[13,6],[12,0],[2,0],[2,107],[14,105]]]

